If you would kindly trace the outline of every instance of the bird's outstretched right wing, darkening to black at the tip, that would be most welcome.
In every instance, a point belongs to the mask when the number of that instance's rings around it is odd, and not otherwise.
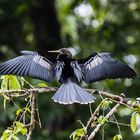
[[[79,64],[84,72],[83,80],[87,83],[136,76],[132,68],[111,58],[109,53],[94,53],[86,59],[79,60]]]

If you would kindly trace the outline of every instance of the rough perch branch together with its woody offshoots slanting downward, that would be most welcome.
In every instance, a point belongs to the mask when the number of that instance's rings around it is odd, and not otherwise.
[[[57,91],[57,87],[40,87],[40,88],[31,88],[31,89],[22,89],[22,90],[0,90],[0,93],[3,93],[5,96],[8,97],[14,97],[14,98],[18,98],[18,97],[26,97],[31,95],[31,120],[30,123],[28,125],[26,125],[25,127],[29,128],[29,133],[27,136],[27,140],[31,139],[31,135],[32,132],[34,130],[34,126],[35,126],[35,112],[36,112],[36,106],[35,106],[35,99],[36,99],[36,95],[41,94],[41,93],[48,93],[48,92],[55,92]],[[98,90],[93,90],[93,89],[85,89],[86,91],[90,92],[91,94],[95,94],[95,95],[100,95],[100,96],[104,96],[106,97],[104,100],[112,100],[113,102],[116,102],[117,104],[111,109],[111,111],[105,116],[106,119],[109,119],[110,116],[112,116],[118,109],[118,107],[123,104],[126,105],[129,108],[135,109],[135,108],[140,108],[140,104],[136,103],[136,102],[131,102],[130,100],[128,100],[127,98],[125,98],[124,96],[120,96],[120,95],[113,95],[111,93],[108,92],[104,92],[104,91],[98,91]],[[0,94],[1,96],[3,94]],[[96,116],[97,112],[99,111],[100,106],[98,106],[96,108],[96,110],[94,111],[94,113],[92,114],[92,116],[90,117],[87,125],[86,125],[86,129],[90,126],[90,124],[92,123],[94,116]],[[92,131],[92,133],[90,134],[90,136],[87,138],[88,140],[91,140],[96,133],[99,131],[99,129],[101,128],[102,125],[104,125],[105,122],[103,123],[99,123],[95,126],[95,129]]]

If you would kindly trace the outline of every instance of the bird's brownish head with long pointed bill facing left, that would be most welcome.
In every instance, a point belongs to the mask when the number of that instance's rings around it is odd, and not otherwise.
[[[72,58],[72,54],[68,48],[61,48],[59,50],[48,51],[50,53],[58,53],[59,55],[65,55],[67,58]]]

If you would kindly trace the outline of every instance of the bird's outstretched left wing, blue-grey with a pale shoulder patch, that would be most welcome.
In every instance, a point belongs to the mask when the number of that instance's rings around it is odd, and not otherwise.
[[[21,51],[22,56],[0,64],[0,75],[32,76],[41,80],[53,79],[53,65],[37,52]]]

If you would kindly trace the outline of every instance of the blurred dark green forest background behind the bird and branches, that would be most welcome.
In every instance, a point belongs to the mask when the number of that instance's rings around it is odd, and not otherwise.
[[[20,50],[36,50],[51,57],[47,51],[61,47],[75,48],[76,58],[110,52],[134,68],[137,78],[82,83],[82,86],[139,97],[140,0],[0,0],[0,62],[19,55]],[[27,80],[33,85],[39,82]],[[58,83],[48,85],[58,86]],[[38,96],[42,128],[36,126],[33,140],[67,140],[74,130],[81,128],[77,120],[86,124],[90,117],[88,105],[59,105],[51,100],[52,95]],[[92,104],[93,111],[100,100],[97,97]],[[15,102],[20,105],[20,99]],[[0,105],[2,135],[12,124],[17,108],[10,102],[4,112],[2,97]],[[131,113],[122,107],[116,117],[119,122],[130,123]],[[129,127],[120,127],[124,140],[140,140],[140,129],[133,134]],[[101,140],[101,133],[96,140]],[[111,140],[116,134],[116,124],[105,125],[105,140]]]

